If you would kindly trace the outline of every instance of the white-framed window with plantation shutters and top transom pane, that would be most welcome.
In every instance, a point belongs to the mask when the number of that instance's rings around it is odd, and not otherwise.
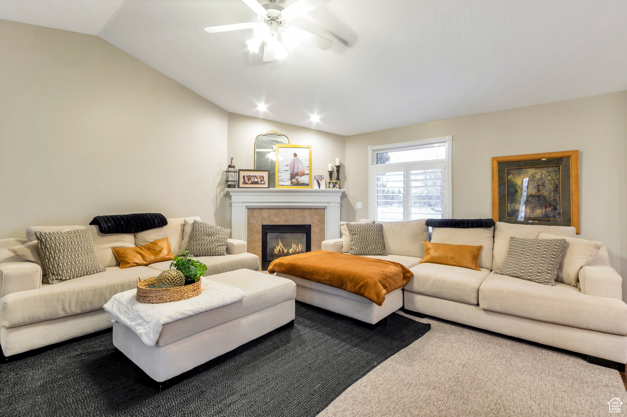
[[[372,218],[450,218],[452,140],[449,136],[369,147]]]

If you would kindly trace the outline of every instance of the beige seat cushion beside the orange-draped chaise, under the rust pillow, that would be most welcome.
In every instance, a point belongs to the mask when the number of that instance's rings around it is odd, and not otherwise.
[[[488,271],[421,263],[409,269],[414,277],[403,288],[431,297],[444,298],[465,304],[479,303],[479,287]]]

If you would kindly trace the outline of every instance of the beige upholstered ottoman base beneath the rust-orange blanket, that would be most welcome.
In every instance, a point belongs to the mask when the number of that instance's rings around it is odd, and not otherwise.
[[[388,293],[383,304],[376,305],[360,295],[319,282],[280,272],[277,272],[277,277],[288,278],[297,285],[296,299],[298,301],[352,317],[369,325],[366,327],[374,327],[388,315],[403,307],[403,288]]]

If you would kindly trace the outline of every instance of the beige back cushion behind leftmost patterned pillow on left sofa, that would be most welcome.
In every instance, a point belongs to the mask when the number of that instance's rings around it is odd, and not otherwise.
[[[100,261],[100,265],[105,268],[117,267],[120,263],[113,255],[111,248],[130,248],[135,246],[135,235],[132,233],[112,233],[111,235],[105,235],[100,233],[98,226],[30,226],[26,229],[26,240],[36,241],[35,232],[43,231],[70,231],[89,229],[92,234],[93,248],[96,251],[96,256]]]

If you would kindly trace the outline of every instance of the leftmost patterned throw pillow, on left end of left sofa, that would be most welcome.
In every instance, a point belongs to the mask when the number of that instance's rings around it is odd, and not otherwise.
[[[46,267],[48,282],[56,284],[105,272],[93,248],[89,229],[59,232],[36,231],[41,261]]]

